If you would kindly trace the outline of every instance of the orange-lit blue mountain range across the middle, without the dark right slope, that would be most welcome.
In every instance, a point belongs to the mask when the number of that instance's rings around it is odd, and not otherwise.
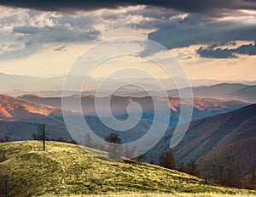
[[[68,112],[68,115],[76,117],[77,113],[72,109],[73,102],[78,102],[80,98],[77,96],[70,97],[71,109],[64,109]],[[102,121],[96,116],[94,107],[94,97],[83,96],[82,108],[85,109],[84,118],[88,122],[90,128],[96,132],[99,136],[104,138],[111,132],[118,132],[111,128],[106,127]],[[127,118],[126,107],[131,101],[141,104],[143,107],[143,118],[129,132],[120,132],[120,136],[123,142],[131,141],[135,138],[142,137],[154,119],[154,105],[152,99],[145,98],[127,98],[113,96],[112,98],[112,112],[113,115],[119,119],[125,120]],[[189,103],[189,100],[188,100]],[[230,110],[236,110],[246,103],[239,101],[222,101],[212,98],[195,98],[194,99],[194,112],[193,120],[203,117],[224,113]],[[169,107],[171,109],[170,128],[175,127],[179,117],[179,98],[169,98]],[[11,140],[17,139],[31,139],[33,132],[38,131],[38,124],[44,123],[48,127],[49,138],[58,139],[64,138],[65,140],[71,140],[63,116],[61,113],[61,98],[41,98],[35,95],[26,95],[20,98],[0,95],[0,137],[9,135]],[[161,122],[161,120],[157,120]],[[18,124],[22,127],[22,132],[15,126]],[[37,123],[37,124],[35,124]],[[31,133],[30,136],[24,133]]]

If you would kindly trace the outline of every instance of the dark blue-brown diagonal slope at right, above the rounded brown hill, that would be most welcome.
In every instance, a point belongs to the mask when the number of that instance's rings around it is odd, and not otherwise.
[[[249,105],[229,113],[214,115],[201,120],[192,121],[183,140],[175,147],[174,156],[178,163],[189,163],[202,159],[205,155],[224,146],[253,140],[256,138],[256,104]],[[160,152],[168,149],[173,129],[166,132],[154,149],[148,152],[148,158],[158,159]],[[247,147],[247,151],[251,151]],[[242,158],[243,152],[236,153]],[[250,158],[256,160],[256,155]],[[244,162],[249,162],[245,160]]]

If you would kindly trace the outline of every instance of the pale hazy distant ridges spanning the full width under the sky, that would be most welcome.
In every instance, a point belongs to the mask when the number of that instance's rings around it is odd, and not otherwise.
[[[35,77],[35,76],[18,76],[18,75],[8,75],[0,73],[0,89],[2,94],[9,94],[12,96],[21,96],[23,94],[37,94],[43,97],[60,97],[63,82],[66,76],[56,76],[56,77]],[[72,84],[67,86],[65,94],[71,96],[78,94],[78,92],[73,91],[74,87],[79,84],[84,83],[84,76],[69,76]],[[101,78],[92,78],[87,76],[86,89],[82,94],[89,95],[95,94],[96,89],[101,82]],[[177,87],[173,80],[170,79],[159,79],[163,87],[169,93],[169,96],[178,97]],[[184,83],[184,79],[177,78],[180,84]],[[136,82],[146,88],[149,93],[153,95],[158,95],[160,87],[156,86],[150,79],[133,79],[133,78],[123,78],[122,80],[108,79],[108,88],[103,90],[103,95],[113,91],[113,87],[119,82],[127,82],[131,84]],[[216,81],[216,80],[190,80],[196,97],[212,97],[212,98],[226,98],[227,94],[233,93],[238,89],[256,85],[256,82],[232,82],[232,81]],[[185,85],[181,85],[179,88],[185,88]],[[236,88],[238,87],[238,88]],[[134,86],[125,86],[119,88],[116,91],[119,96],[138,96],[143,97],[148,95],[144,93],[141,88]],[[233,97],[236,99],[236,97]],[[248,102],[249,100],[247,100]],[[254,101],[250,101],[254,102]]]

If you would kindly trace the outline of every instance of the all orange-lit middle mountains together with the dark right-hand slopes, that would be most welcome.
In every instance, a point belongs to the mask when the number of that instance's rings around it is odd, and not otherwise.
[[[126,108],[131,102],[137,102],[143,108],[143,116],[137,126],[127,132],[119,132],[106,127],[96,116],[95,96],[67,97],[70,104],[67,109],[63,110],[76,119],[78,115],[76,110],[78,109],[72,107],[73,102],[79,102],[80,99],[84,110],[84,119],[91,130],[101,138],[108,136],[111,132],[118,132],[123,143],[131,142],[142,137],[154,119],[152,98],[113,95],[110,99],[111,110],[119,120],[127,118]],[[156,99],[161,98],[157,97]],[[241,101],[216,98],[194,98],[193,100],[193,115],[189,130],[183,140],[173,149],[177,166],[195,163],[201,174],[218,179],[219,183],[226,181],[224,177],[227,177],[228,172],[228,174],[232,172],[237,175],[236,178],[232,177],[232,180],[234,178],[245,179],[250,175],[256,163],[256,157],[253,154],[256,152],[256,104],[248,105]],[[182,104],[190,103],[191,98],[187,98],[183,100]],[[169,97],[166,107],[171,110],[172,114],[169,122],[170,130],[146,154],[148,161],[153,160],[154,163],[158,163],[159,155],[169,149],[172,133],[177,126],[180,106],[179,98]],[[161,120],[157,121],[161,123]],[[34,134],[40,134],[38,127],[43,123],[46,125],[47,138],[73,141],[63,120],[61,98],[42,98],[37,95],[24,95],[15,98],[0,95],[1,141],[32,139]],[[222,170],[220,171],[220,169]],[[239,187],[235,183],[233,186]]]

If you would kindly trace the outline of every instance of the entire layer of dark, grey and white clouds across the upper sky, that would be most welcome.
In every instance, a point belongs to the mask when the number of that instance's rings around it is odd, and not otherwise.
[[[236,52],[229,48],[212,48],[213,43],[256,40],[256,3],[253,0],[25,0],[1,1],[1,4],[15,8],[2,7],[1,10],[0,7],[0,59],[27,57],[48,42],[65,46],[66,42],[101,40],[104,31],[118,28],[127,32],[151,31],[148,39],[168,49],[207,45],[208,48],[199,48],[197,53],[218,59],[234,58]],[[119,8],[128,5],[134,6]],[[100,8],[105,9],[96,10]],[[157,52],[157,48],[152,51],[146,47],[143,53]]]

